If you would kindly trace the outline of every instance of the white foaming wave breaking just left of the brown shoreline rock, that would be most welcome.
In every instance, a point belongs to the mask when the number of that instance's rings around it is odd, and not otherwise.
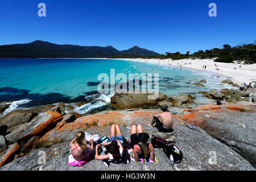
[[[101,96],[96,98],[95,101],[85,104],[85,105],[82,105],[80,107],[75,107],[75,109],[73,111],[75,111],[76,113],[79,113],[79,114],[88,113],[89,111],[91,111],[93,109],[110,104],[110,98],[112,96],[114,96],[114,93],[110,93],[108,95],[101,94]]]

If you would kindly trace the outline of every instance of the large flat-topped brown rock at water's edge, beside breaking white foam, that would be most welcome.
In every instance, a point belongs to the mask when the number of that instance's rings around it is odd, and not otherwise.
[[[152,97],[152,98],[150,98]],[[154,99],[156,98],[156,99]],[[167,96],[162,92],[159,93],[115,93],[111,97],[111,106],[117,109],[147,109],[150,106],[158,105],[158,102],[164,101]]]

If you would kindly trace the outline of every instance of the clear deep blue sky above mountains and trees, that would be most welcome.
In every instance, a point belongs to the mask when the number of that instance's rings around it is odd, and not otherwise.
[[[38,16],[40,2],[46,17]],[[212,2],[217,17],[208,15]],[[254,42],[255,7],[255,0],[0,0],[0,45],[44,40],[196,52]]]

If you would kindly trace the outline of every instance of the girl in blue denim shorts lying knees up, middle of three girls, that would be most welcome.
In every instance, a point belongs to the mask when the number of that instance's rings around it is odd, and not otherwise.
[[[96,145],[96,155],[95,159],[97,160],[104,160],[104,159],[110,159],[110,160],[118,160],[123,155],[123,136],[120,130],[120,127],[118,125],[113,124],[110,128],[110,142],[105,142],[102,144]],[[102,146],[108,146],[106,147],[106,150],[109,152],[106,155],[99,155],[98,154],[98,148]]]

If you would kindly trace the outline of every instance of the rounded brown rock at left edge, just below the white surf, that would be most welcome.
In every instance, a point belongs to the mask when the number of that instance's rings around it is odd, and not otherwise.
[[[15,110],[3,117],[0,117],[0,125],[7,125],[8,128],[30,122],[38,113],[31,110]]]

